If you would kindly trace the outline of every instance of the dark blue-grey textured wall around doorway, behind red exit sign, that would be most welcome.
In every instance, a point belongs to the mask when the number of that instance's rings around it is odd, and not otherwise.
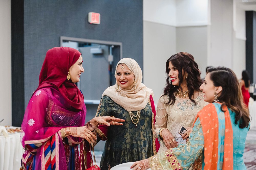
[[[100,13],[101,24],[89,24],[88,12]],[[38,86],[46,51],[60,46],[60,36],[121,42],[123,57],[143,69],[142,0],[24,1],[24,107]]]

